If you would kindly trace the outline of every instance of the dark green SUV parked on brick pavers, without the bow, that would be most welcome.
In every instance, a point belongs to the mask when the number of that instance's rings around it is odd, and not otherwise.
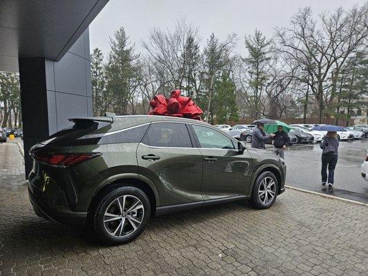
[[[163,116],[70,119],[33,146],[30,201],[37,215],[87,226],[102,242],[135,239],[153,215],[284,192],[284,161],[202,121]]]

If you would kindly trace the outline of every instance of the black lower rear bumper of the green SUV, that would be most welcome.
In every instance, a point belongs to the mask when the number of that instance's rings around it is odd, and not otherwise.
[[[28,183],[28,196],[36,215],[38,215],[39,217],[43,217],[44,219],[58,222],[60,224],[75,226],[86,225],[87,213],[59,213],[55,210],[52,210],[41,201],[37,200],[35,195],[33,195],[32,193],[30,187],[31,185],[31,183]]]

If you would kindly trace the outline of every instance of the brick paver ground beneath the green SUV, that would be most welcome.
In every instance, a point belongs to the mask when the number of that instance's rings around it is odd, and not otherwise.
[[[37,217],[26,186],[1,179],[1,276],[368,275],[367,206],[288,189],[268,210],[233,203],[155,217],[135,242],[106,247]]]

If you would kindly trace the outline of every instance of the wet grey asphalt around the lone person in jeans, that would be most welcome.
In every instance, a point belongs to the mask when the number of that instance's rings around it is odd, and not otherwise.
[[[340,141],[333,188],[322,186],[319,144],[291,146],[285,153],[287,185],[368,203],[368,181],[360,176],[368,139]]]

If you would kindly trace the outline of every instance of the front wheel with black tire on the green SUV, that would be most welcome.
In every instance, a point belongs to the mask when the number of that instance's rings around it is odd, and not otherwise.
[[[266,186],[264,184],[266,184]],[[268,190],[267,193],[262,194],[262,190],[264,190],[269,184],[271,184],[270,190]],[[271,192],[273,192],[273,197],[270,200],[269,196],[272,195]],[[267,195],[267,198],[265,195]],[[262,172],[260,175],[258,175],[253,185],[251,195],[251,205],[257,209],[270,208],[275,202],[277,196],[278,196],[278,179],[275,177],[275,175],[273,175],[273,173],[269,171]]]

